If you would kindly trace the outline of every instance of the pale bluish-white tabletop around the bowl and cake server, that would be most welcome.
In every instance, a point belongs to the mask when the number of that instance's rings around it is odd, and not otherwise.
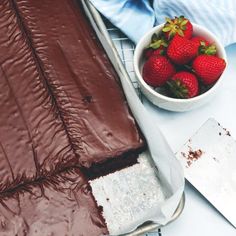
[[[229,65],[222,90],[203,107],[191,112],[174,113],[144,101],[175,152],[210,117],[219,121],[236,138],[236,44],[227,47],[227,56]],[[162,236],[236,235],[236,229],[189,183],[186,183],[185,194],[183,213],[175,222],[162,228]]]

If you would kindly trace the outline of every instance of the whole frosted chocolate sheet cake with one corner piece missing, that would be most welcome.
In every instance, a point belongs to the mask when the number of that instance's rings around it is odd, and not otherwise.
[[[88,179],[145,141],[81,4],[2,0],[0,35],[0,235],[107,234]]]

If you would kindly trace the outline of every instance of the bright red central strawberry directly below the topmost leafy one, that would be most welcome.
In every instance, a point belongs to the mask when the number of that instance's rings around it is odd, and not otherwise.
[[[167,48],[168,57],[177,65],[190,62],[198,54],[198,47],[191,40],[176,35]]]

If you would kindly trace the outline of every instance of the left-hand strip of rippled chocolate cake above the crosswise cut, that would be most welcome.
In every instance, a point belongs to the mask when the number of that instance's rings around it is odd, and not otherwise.
[[[76,161],[11,1],[0,2],[0,192]]]

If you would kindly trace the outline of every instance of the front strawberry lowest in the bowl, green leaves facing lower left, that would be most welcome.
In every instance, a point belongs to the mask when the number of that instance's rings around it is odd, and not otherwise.
[[[190,72],[180,71],[167,83],[170,92],[176,98],[192,98],[198,95],[198,80],[196,76]]]

